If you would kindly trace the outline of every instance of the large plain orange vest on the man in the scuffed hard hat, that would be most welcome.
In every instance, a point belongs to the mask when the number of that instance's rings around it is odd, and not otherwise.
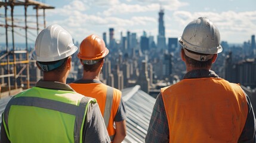
[[[224,79],[183,79],[161,89],[169,142],[238,142],[248,114],[242,88]]]

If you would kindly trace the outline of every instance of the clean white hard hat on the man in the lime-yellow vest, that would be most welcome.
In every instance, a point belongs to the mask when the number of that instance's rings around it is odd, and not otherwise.
[[[42,30],[36,38],[33,59],[42,62],[58,61],[69,57],[77,50],[69,32],[53,24]]]

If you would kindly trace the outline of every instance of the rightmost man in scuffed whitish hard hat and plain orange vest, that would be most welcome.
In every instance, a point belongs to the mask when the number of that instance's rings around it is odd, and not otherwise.
[[[162,88],[146,142],[255,142],[255,117],[242,88],[211,70],[220,45],[217,27],[206,17],[190,22],[178,39],[187,73]]]

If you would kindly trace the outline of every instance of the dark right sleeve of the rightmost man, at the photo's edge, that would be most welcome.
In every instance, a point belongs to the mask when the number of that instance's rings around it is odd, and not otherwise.
[[[251,101],[246,95],[247,105],[248,105],[248,114],[245,122],[245,126],[243,127],[243,131],[238,139],[238,142],[249,143],[249,142],[256,142],[255,139],[255,132],[256,132],[256,122],[254,116],[254,110],[252,108]]]

